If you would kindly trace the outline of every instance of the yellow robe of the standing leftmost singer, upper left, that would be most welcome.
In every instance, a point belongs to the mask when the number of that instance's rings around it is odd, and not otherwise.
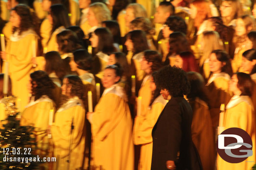
[[[27,30],[21,33],[12,34],[6,47],[6,61],[9,62],[9,75],[12,81],[12,93],[21,99],[21,110],[24,109],[29,99],[29,91],[26,85],[29,82],[29,74],[34,71],[32,67],[32,41],[36,42],[39,37],[34,30]],[[5,62],[3,63],[5,65]],[[4,66],[3,66],[4,68]]]

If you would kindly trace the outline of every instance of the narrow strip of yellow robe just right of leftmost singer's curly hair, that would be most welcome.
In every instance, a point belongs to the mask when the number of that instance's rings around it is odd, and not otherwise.
[[[47,47],[47,41],[50,38],[52,31],[52,25],[50,24],[48,19],[44,19],[40,26],[40,35],[42,37],[42,46]]]

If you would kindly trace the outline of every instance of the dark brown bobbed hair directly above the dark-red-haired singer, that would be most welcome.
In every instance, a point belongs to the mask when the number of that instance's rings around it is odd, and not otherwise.
[[[174,32],[170,34],[169,46],[169,54],[191,51],[185,34],[181,32]]]

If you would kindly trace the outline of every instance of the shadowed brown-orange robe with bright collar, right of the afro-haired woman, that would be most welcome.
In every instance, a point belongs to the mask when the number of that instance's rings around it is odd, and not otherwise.
[[[228,90],[230,76],[226,73],[212,74],[206,84],[210,96],[210,114],[212,117],[212,126],[215,128],[219,124],[219,108],[221,104],[227,104],[232,93]]]

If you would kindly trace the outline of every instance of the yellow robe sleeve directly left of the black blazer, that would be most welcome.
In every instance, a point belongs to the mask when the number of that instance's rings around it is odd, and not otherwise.
[[[152,129],[164,107],[162,103],[155,103],[148,110],[149,113],[146,116],[135,118],[133,125],[133,142],[135,145],[152,142]]]

